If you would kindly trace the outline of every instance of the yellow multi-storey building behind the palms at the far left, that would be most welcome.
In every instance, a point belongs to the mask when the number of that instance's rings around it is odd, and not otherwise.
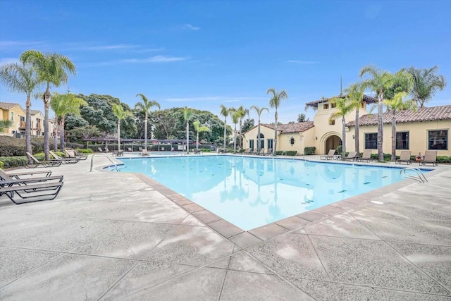
[[[25,110],[20,104],[14,104],[11,102],[0,102],[0,120],[11,120],[13,126],[6,128],[4,133],[0,135],[8,135],[15,137],[25,137]],[[44,136],[44,115],[41,111],[30,110],[31,128],[30,135],[32,137]],[[53,135],[54,122],[49,121],[49,137]]]

